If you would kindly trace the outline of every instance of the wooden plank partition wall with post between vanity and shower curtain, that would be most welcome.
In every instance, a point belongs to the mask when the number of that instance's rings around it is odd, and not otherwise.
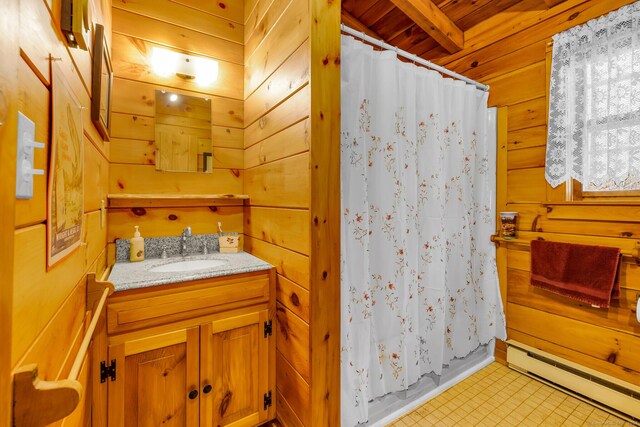
[[[277,268],[278,419],[339,424],[340,4],[245,0],[245,249]]]

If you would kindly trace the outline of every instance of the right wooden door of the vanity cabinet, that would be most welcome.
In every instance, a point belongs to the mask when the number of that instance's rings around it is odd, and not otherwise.
[[[274,405],[265,405],[265,396],[275,402],[270,379],[275,340],[265,333],[268,320],[268,310],[260,310],[202,325],[201,426],[252,427],[273,417]]]

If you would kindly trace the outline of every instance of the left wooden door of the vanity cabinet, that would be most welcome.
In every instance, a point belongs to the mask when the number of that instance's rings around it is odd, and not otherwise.
[[[198,426],[199,328],[109,347],[109,427]]]

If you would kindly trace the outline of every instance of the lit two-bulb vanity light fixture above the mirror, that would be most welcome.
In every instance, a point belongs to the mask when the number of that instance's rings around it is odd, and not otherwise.
[[[218,61],[156,46],[151,51],[151,66],[160,76],[175,74],[184,80],[194,80],[200,86],[210,85],[218,78]]]

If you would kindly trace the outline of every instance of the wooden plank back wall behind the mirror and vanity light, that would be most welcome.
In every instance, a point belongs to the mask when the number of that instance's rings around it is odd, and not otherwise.
[[[206,3],[206,4],[205,4]],[[110,193],[243,193],[244,21],[241,1],[113,1],[113,105]],[[218,61],[218,79],[200,87],[150,68],[153,46]],[[160,172],[155,166],[155,90],[211,98],[214,169],[210,174]],[[113,242],[130,238],[242,232],[242,202],[205,207],[109,209],[110,260]],[[242,244],[242,243],[241,243]]]

